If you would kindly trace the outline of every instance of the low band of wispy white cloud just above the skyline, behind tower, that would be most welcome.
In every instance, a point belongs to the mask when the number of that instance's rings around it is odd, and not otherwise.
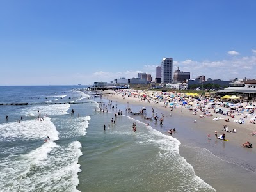
[[[236,52],[236,51],[234,51]],[[233,55],[237,55],[234,54]],[[177,70],[179,67],[182,71],[191,72],[191,78],[195,78],[199,75],[204,75],[206,78],[211,79],[222,79],[230,80],[235,77],[243,78],[255,78],[255,65],[256,65],[256,50],[252,50],[251,56],[237,56],[232,57],[229,60],[220,60],[220,61],[193,61],[187,59],[184,61],[173,61],[173,71]],[[239,53],[238,53],[239,54]],[[143,65],[139,70],[127,70],[121,72],[95,72],[92,74],[93,79],[104,78],[104,81],[111,81],[113,79],[119,79],[120,77],[132,78],[138,77],[139,72],[146,72],[151,74],[153,78],[156,77],[156,67],[158,65]],[[100,77],[100,78],[99,78]],[[100,80],[103,81],[103,80]]]

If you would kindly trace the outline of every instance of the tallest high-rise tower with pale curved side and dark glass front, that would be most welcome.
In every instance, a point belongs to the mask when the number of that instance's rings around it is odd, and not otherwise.
[[[162,60],[161,83],[172,83],[172,58],[163,58]]]

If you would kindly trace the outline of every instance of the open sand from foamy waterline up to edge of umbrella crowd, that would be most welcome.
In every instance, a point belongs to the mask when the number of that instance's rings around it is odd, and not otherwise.
[[[111,90],[104,90],[102,93],[106,92],[113,93]],[[185,108],[176,108],[171,111],[172,116],[168,116],[170,115],[170,108],[164,108],[161,103],[139,102],[138,99],[122,97],[122,95],[118,93],[114,93],[113,95],[107,94],[104,96],[104,99],[113,100],[124,106],[146,107],[147,112],[150,113],[150,108],[154,108],[155,111],[164,115],[164,129],[159,126],[157,127],[157,125],[152,125],[152,128],[157,129],[157,131],[163,134],[168,134],[166,131],[168,127],[173,129],[174,127],[172,126],[175,126],[177,131],[173,134],[173,137],[177,138],[181,143],[181,145],[179,145],[180,156],[184,157],[186,161],[193,166],[196,175],[201,177],[217,191],[220,191],[221,186],[225,186],[226,188],[228,186],[230,190],[228,189],[226,191],[240,191],[239,189],[242,190],[244,187],[246,187],[246,190],[248,189],[247,191],[251,191],[250,188],[252,188],[253,191],[253,182],[256,179],[256,163],[254,162],[256,153],[253,148],[243,148],[240,145],[244,140],[250,139],[250,143],[255,146],[255,140],[253,141],[254,137],[250,135],[252,127],[236,124],[234,122],[225,122],[224,120],[213,121],[212,119],[214,117],[220,116],[218,114],[211,117],[205,116],[204,119],[200,119],[200,113],[193,115],[193,113]],[[181,109],[182,113],[180,111]],[[193,120],[196,120],[196,123],[193,123]],[[143,122],[143,119],[141,119],[141,122]],[[150,122],[150,125],[153,124],[153,122]],[[215,130],[223,132],[223,124],[226,124],[231,130],[233,127],[237,129],[236,133],[225,132],[226,138],[229,139],[229,141],[222,141],[216,139],[214,136]],[[210,140],[207,138],[209,133],[211,134]],[[196,157],[195,154],[201,154],[202,152],[204,152],[204,160],[200,159],[200,161],[198,161],[199,157]],[[214,159],[214,163],[209,163],[212,159]],[[216,162],[219,163],[215,164]],[[209,176],[209,173],[205,172],[205,169],[201,166],[202,164],[207,166],[207,170],[215,170],[214,173],[211,172],[211,175],[214,175],[214,179]],[[221,168],[219,168],[220,164]],[[223,170],[225,170],[225,173],[222,172]],[[246,175],[244,175],[244,173],[246,173]],[[236,174],[237,177],[229,179],[230,174]],[[218,177],[218,179],[216,179],[216,177]],[[244,184],[240,184],[240,186],[232,184],[232,187],[230,187],[230,182],[237,182],[239,177],[244,178]]]

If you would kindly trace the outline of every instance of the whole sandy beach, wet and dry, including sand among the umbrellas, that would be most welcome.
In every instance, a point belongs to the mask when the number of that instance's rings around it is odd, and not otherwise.
[[[136,91],[129,90],[129,92]],[[147,96],[145,99],[136,95],[131,97],[128,93],[120,90],[104,90],[102,93],[105,99],[116,101],[131,107],[131,109],[132,106],[141,106],[141,108],[147,108],[148,114],[152,114],[152,108],[154,108],[155,114],[157,112],[158,116],[164,116],[163,127],[159,127],[154,120],[148,122],[154,129],[164,134],[168,134],[169,128],[175,127],[177,131],[172,136],[181,143],[180,154],[194,167],[196,175],[214,186],[217,191],[221,191],[222,188],[225,188],[225,191],[243,191],[244,187],[246,187],[246,191],[255,191],[253,183],[256,179],[256,137],[251,133],[256,131],[256,124],[250,123],[254,111],[247,118],[244,116],[247,116],[249,110],[245,110],[246,112],[241,114],[236,111],[233,114],[234,118],[228,116],[230,122],[225,122],[227,115],[215,113],[214,108],[207,108],[207,106],[205,108],[212,116],[205,116],[204,112],[200,110],[195,113],[196,105],[189,110],[187,105],[182,106],[179,102],[175,108],[170,108],[170,103],[166,105],[164,100],[148,100]],[[150,95],[152,93],[143,92],[143,94]],[[191,100],[194,100],[195,103],[195,99],[191,98]],[[241,105],[245,109],[247,103]],[[200,118],[200,115],[204,115],[204,118]],[[216,120],[216,118],[219,119]],[[244,124],[234,122],[234,120],[242,118]],[[145,122],[147,121],[145,120]],[[236,133],[226,132],[223,129],[224,124],[227,125],[229,131],[236,129]],[[218,136],[224,132],[225,139],[228,141],[215,138],[215,131],[218,132]],[[208,139],[208,134],[210,134],[210,139]],[[246,141],[252,143],[254,148],[241,147]],[[209,174],[209,170],[211,170],[211,174]]]

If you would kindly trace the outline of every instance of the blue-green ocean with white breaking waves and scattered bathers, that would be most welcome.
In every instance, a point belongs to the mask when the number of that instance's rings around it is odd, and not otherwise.
[[[0,86],[0,103],[28,103],[0,106],[0,191],[216,191],[179,140],[84,88]]]

